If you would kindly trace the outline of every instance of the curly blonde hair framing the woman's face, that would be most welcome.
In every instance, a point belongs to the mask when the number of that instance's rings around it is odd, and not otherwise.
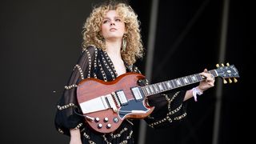
[[[87,46],[97,46],[106,50],[105,42],[102,38],[102,20],[109,10],[116,10],[118,15],[125,22],[126,26],[126,50],[122,50],[122,59],[129,65],[134,64],[138,58],[143,56],[142,36],[140,34],[140,22],[134,10],[123,2],[108,2],[101,6],[94,7],[82,30],[82,48]]]

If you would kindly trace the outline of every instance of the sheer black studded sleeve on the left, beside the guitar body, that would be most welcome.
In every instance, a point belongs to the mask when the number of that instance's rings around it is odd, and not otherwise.
[[[76,97],[76,87],[82,79],[93,75],[91,71],[93,71],[96,57],[97,49],[94,46],[89,46],[82,51],[57,103],[54,123],[58,132],[62,134],[70,135],[70,129],[79,129],[82,126],[83,118],[79,116],[81,110]]]

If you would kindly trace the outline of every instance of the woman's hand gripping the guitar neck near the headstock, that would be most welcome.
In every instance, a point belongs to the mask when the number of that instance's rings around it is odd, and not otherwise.
[[[205,77],[205,80],[201,81],[199,83],[198,89],[205,91],[209,89],[210,87],[214,86],[215,78],[214,75],[208,73],[208,70],[205,69],[202,73],[200,73],[203,77]]]

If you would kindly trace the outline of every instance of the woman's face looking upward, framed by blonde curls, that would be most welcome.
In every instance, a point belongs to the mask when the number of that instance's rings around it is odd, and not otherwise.
[[[125,33],[125,22],[115,10],[110,10],[102,21],[102,36],[106,40],[122,39]]]

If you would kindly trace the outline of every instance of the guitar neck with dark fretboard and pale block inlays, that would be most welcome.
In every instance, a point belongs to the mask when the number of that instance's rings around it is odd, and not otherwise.
[[[218,77],[216,70],[209,70],[210,74]],[[191,74],[182,78],[175,78],[165,82],[158,82],[148,86],[142,86],[142,91],[145,96],[159,94],[167,90],[173,90],[182,86],[187,86],[196,82],[201,82],[204,78],[200,74]]]

